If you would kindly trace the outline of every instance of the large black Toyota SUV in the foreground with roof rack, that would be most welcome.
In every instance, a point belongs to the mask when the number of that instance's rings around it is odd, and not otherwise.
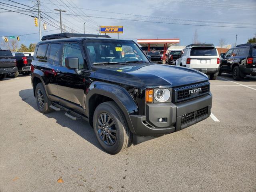
[[[154,64],[132,40],[69,33],[43,36],[31,71],[39,111],[66,110],[72,120],[88,120],[110,154],[132,141],[136,145],[191,126],[211,112],[205,74]]]

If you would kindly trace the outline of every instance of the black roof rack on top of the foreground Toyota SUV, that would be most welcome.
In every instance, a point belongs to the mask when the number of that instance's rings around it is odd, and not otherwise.
[[[103,37],[110,38],[108,35],[94,35],[94,34],[80,34],[80,33],[58,33],[52,35],[45,35],[42,37],[42,41],[49,39],[60,39],[60,38],[70,38],[70,37]]]

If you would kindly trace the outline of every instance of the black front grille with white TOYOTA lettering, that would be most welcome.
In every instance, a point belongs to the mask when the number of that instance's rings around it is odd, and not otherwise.
[[[189,100],[210,92],[210,82],[204,82],[200,84],[184,86],[173,89],[173,102],[181,102]]]

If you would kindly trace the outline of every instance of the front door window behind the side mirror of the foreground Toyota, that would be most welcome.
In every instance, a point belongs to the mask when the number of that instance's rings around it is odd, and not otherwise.
[[[79,63],[79,68],[84,69],[84,58],[83,58],[79,44],[65,43],[64,50],[63,50],[62,66],[65,66],[65,58],[66,57],[77,57],[78,63]]]

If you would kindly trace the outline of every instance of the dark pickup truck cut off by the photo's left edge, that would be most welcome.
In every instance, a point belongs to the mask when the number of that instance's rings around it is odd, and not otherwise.
[[[15,74],[17,71],[16,60],[12,52],[0,49],[0,79],[5,78],[8,73]]]

